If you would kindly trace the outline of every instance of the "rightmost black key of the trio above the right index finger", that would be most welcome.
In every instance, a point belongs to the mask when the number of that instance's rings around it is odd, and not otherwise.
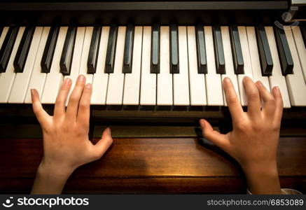
[[[237,26],[230,27],[230,42],[232,45],[232,57],[236,74],[244,74],[244,60]]]

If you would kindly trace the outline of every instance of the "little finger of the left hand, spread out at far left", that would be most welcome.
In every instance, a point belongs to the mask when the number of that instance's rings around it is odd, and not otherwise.
[[[41,100],[39,99],[39,92],[37,92],[37,90],[31,89],[31,97],[34,114],[37,120],[39,120],[39,123],[43,126],[50,116],[43,109],[43,106],[41,106]]]

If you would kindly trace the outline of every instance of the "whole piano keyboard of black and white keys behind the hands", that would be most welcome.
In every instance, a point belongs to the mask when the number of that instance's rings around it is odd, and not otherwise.
[[[0,103],[54,104],[64,78],[92,83],[91,104],[134,109],[226,106],[229,77],[279,86],[284,107],[306,106],[305,27],[0,27]]]

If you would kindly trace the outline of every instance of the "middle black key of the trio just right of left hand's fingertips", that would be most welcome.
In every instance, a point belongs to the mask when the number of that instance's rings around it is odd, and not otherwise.
[[[111,25],[109,30],[109,43],[107,43],[105,73],[113,73],[113,65],[115,64],[115,52],[117,41],[118,27]]]

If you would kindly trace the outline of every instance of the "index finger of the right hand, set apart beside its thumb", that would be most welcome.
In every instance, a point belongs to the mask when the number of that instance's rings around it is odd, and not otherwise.
[[[230,78],[224,78],[223,88],[226,96],[226,102],[228,104],[228,109],[230,109],[230,115],[232,116],[232,120],[237,121],[244,114],[244,111],[242,109],[242,106],[240,105],[234,85],[232,85]]]

